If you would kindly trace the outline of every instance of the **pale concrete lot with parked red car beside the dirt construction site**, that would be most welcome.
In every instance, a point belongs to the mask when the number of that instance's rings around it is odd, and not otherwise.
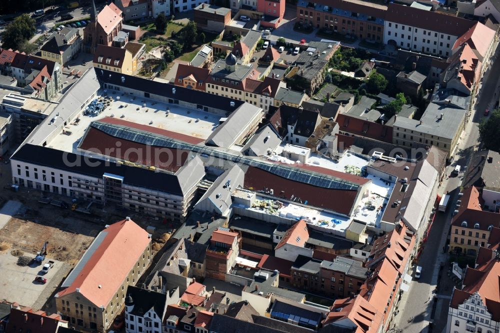
[[[18,266],[18,257],[11,253],[14,253],[12,249],[0,252],[0,300],[15,301],[20,305],[36,309],[41,308],[67,274],[69,266],[55,260],[54,266],[46,274],[41,274],[47,279],[47,283],[43,284],[34,281],[42,265]]]

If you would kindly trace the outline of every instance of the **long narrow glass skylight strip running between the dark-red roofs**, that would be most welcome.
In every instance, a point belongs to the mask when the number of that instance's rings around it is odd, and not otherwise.
[[[357,190],[359,185],[344,179],[336,178],[329,175],[324,175],[310,170],[303,170],[297,167],[276,164],[272,162],[260,161],[253,158],[241,156],[237,153],[230,153],[218,150],[218,148],[208,148],[205,146],[197,146],[189,143],[177,141],[172,138],[164,137],[158,134],[149,133],[135,128],[124,127],[115,124],[102,122],[93,122],[92,127],[116,138],[133,141],[151,146],[165,147],[180,150],[189,150],[197,154],[216,157],[233,163],[245,164],[252,167],[257,167],[267,172],[271,172],[277,176],[298,181],[301,183],[311,184],[323,188]]]

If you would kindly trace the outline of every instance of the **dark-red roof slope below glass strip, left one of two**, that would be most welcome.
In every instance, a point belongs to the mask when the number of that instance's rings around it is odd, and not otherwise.
[[[116,149],[119,147],[119,149]],[[188,151],[147,146],[134,141],[115,138],[96,128],[88,128],[79,146],[95,154],[103,154],[120,160],[127,160],[146,166],[176,172],[189,155]]]

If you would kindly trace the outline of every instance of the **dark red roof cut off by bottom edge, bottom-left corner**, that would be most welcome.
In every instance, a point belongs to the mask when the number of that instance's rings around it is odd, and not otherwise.
[[[5,333],[56,333],[59,321],[67,326],[57,314],[47,316],[44,311],[33,311],[30,307],[12,308]]]

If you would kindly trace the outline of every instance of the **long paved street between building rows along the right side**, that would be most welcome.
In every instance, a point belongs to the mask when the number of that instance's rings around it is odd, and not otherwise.
[[[445,213],[436,213],[427,241],[423,244],[422,254],[417,264],[422,266],[421,278],[413,279],[409,291],[403,293],[399,301],[399,313],[395,316],[394,324],[404,333],[430,331],[429,322],[433,322],[431,329],[433,332],[440,333],[446,326],[453,282],[447,276],[447,254],[443,253],[442,248],[446,243],[453,208],[463,180],[463,172],[467,169],[472,154],[480,147],[478,124],[484,119],[484,110],[493,109],[499,94],[499,77],[496,75],[498,71],[500,71],[500,61],[495,59],[491,68],[485,73],[482,86],[479,87],[472,121],[467,123],[454,161],[447,167],[445,179],[439,187],[439,195],[449,192],[451,200]],[[458,177],[449,177],[456,165],[462,166],[462,172]],[[412,267],[413,272],[415,267],[416,264]],[[439,283],[438,280],[440,280]],[[437,289],[436,286],[438,286]]]

